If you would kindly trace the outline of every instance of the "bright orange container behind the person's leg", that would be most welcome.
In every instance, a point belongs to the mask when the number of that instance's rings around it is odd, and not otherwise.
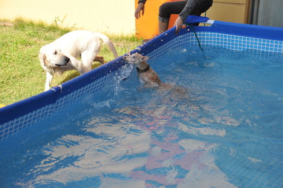
[[[158,12],[159,7],[164,2],[177,0],[147,0],[144,5],[144,14],[141,18],[136,19],[136,34],[139,38],[152,38],[158,34]],[[135,7],[138,6],[138,0],[135,0]],[[178,15],[171,15],[169,21],[169,28],[174,26]]]

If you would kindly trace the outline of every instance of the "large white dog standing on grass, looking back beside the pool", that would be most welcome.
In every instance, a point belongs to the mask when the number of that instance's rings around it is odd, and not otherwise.
[[[91,71],[94,61],[104,64],[104,58],[97,56],[101,46],[100,39],[117,58],[117,51],[106,35],[85,30],[71,31],[42,47],[39,60],[43,69],[47,71],[45,91],[50,89],[54,73],[62,75],[65,71],[77,70],[83,74]]]

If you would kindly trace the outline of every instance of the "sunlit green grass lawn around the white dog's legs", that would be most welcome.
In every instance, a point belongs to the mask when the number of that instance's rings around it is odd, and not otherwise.
[[[44,92],[46,72],[38,59],[40,48],[76,30],[73,27],[61,27],[58,25],[59,21],[55,18],[52,24],[46,24],[23,18],[0,20],[0,23],[14,24],[0,25],[0,104],[8,105]],[[135,35],[104,34],[114,43],[119,56],[141,45],[141,40]],[[106,45],[102,45],[98,55],[104,56],[106,62],[114,59]],[[100,64],[94,62],[93,69],[98,66]],[[80,74],[77,71],[67,71],[63,76],[54,75],[51,87],[78,75]]]

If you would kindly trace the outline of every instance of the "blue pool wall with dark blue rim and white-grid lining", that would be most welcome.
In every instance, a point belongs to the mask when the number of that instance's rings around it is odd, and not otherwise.
[[[201,46],[224,47],[232,50],[255,49],[283,53],[283,28],[249,24],[235,24],[220,21],[206,26],[192,26],[175,35],[175,27],[157,36],[145,45],[132,50],[150,57],[150,60],[164,55],[168,49],[198,44]],[[34,95],[19,102],[0,108],[0,144],[21,137],[22,133],[39,126],[59,112],[71,111],[80,103],[85,93],[94,94],[105,86],[111,72],[125,65],[120,56],[92,71],[80,75],[47,92]],[[43,86],[44,87],[44,86]]]

